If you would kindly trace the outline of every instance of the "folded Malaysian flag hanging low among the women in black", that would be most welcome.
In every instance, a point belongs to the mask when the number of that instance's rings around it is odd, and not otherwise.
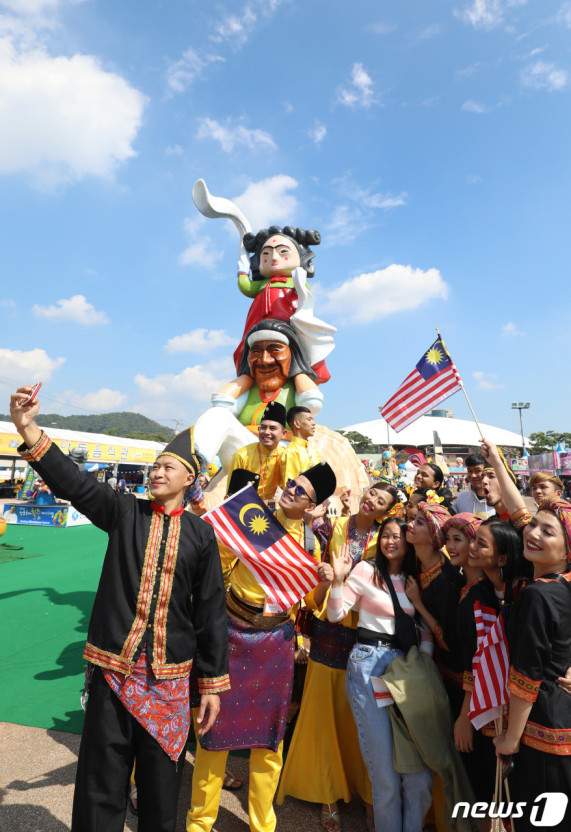
[[[510,657],[502,613],[474,604],[477,650],[472,660],[474,689],[468,716],[474,728],[481,728],[503,713],[509,702]]]

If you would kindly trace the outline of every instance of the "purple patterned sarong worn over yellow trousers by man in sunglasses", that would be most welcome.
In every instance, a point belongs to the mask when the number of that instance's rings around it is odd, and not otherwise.
[[[200,738],[207,751],[271,748],[286,729],[293,685],[295,628],[255,630],[228,616],[230,690],[220,694],[220,713]]]

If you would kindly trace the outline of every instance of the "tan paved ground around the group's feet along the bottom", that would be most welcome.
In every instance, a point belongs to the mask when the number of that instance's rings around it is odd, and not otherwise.
[[[0,829],[2,832],[68,832],[77,734],[0,723]],[[187,753],[178,810],[177,832],[184,832],[192,779],[193,756]],[[248,760],[231,758],[232,771],[248,776]],[[216,832],[248,832],[247,789],[222,793]],[[279,832],[307,832],[318,827],[318,807],[288,798],[277,809]],[[342,807],[344,832],[364,832],[359,801]],[[125,829],[135,832],[136,818],[127,813]]]

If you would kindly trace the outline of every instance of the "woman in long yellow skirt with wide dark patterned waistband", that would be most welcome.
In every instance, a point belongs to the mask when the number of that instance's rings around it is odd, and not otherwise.
[[[318,567],[322,580],[333,580],[332,559],[344,547],[351,568],[375,556],[379,522],[395,506],[397,490],[388,483],[374,483],[359,501],[357,514],[333,522],[326,508],[311,512],[312,528],[325,552]],[[316,593],[318,590],[316,590]],[[316,603],[325,599],[315,595]],[[327,620],[325,604],[312,617],[311,650],[301,708],[288,752],[278,803],[286,795],[321,804],[321,825],[339,832],[337,803],[359,794],[372,818],[371,783],[359,748],[357,729],[345,694],[347,659],[356,638],[356,615],[341,621]]]

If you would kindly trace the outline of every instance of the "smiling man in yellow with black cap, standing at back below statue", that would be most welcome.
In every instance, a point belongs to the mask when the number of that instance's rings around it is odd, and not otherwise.
[[[286,425],[286,409],[279,402],[270,402],[262,414],[258,442],[236,451],[228,476],[237,468],[260,475],[258,494],[266,503],[273,500],[278,486],[283,490],[286,476],[282,462],[284,448],[280,445]]]

